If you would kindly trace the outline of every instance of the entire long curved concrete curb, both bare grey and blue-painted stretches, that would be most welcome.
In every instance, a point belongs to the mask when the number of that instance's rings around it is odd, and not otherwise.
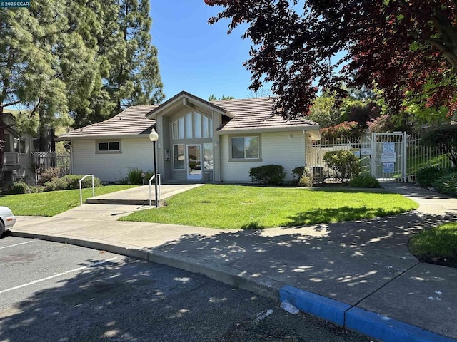
[[[359,309],[335,299],[329,299],[318,294],[313,294],[296,287],[283,284],[258,274],[249,274],[246,271],[233,269],[229,266],[216,264],[212,261],[185,257],[180,254],[161,252],[154,249],[132,248],[120,245],[106,244],[104,242],[74,239],[71,237],[59,237],[47,234],[34,234],[26,232],[10,232],[14,237],[30,239],[42,239],[64,244],[91,249],[104,250],[106,252],[135,257],[139,259],[164,264],[176,269],[183,269],[196,274],[203,274],[210,279],[221,281],[224,284],[251,291],[259,296],[264,296],[274,301],[288,300],[307,314],[323,318],[326,321],[336,323],[344,328],[363,333],[371,338],[384,342],[457,342],[452,338],[426,331],[408,323],[396,321],[393,318],[376,314],[371,311]]]

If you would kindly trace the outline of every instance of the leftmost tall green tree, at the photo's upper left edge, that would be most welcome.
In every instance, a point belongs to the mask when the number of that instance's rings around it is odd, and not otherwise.
[[[63,1],[32,1],[28,9],[0,9],[0,170],[4,162],[4,108],[19,103],[34,115],[39,108],[66,113],[65,83],[56,77]]]

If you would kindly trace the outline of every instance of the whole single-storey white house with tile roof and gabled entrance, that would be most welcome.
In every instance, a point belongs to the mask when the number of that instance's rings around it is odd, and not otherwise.
[[[271,115],[271,98],[206,101],[182,91],[161,105],[127,108],[109,120],[60,135],[71,142],[72,173],[102,182],[129,169],[154,169],[149,133],[159,133],[157,172],[164,182],[251,182],[249,170],[306,165],[306,145],[320,138],[310,120]]]

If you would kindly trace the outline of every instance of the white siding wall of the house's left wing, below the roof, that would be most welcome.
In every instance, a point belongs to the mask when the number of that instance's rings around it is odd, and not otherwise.
[[[129,169],[154,169],[149,137],[122,139],[121,153],[96,153],[95,140],[73,140],[71,144],[75,175],[94,174],[101,182],[119,182],[126,178]]]

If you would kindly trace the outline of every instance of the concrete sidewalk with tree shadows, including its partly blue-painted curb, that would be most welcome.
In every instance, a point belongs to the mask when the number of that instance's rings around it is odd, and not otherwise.
[[[19,217],[12,234],[205,274],[288,299],[381,341],[457,341],[457,269],[419,263],[407,246],[415,232],[456,221],[457,199],[411,184],[383,187],[415,200],[419,209],[357,222],[219,231],[118,222],[144,207],[84,204],[56,217]]]

